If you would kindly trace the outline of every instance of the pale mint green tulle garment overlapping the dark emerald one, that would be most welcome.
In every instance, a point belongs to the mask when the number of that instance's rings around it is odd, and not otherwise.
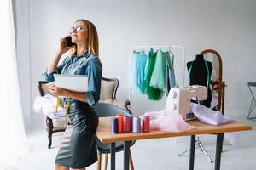
[[[158,88],[162,91],[166,89],[166,60],[168,52],[164,53],[161,50],[156,52],[156,59],[154,63],[154,70],[150,79],[149,86]],[[170,56],[169,56],[170,57]]]

